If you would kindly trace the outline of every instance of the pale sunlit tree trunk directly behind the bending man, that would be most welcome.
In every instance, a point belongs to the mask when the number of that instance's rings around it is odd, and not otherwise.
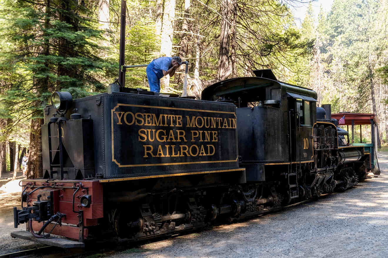
[[[174,32],[175,0],[165,0],[163,14],[162,39],[160,53],[163,56],[171,56],[172,38]],[[166,75],[160,80],[160,86],[164,91],[169,91],[170,76]]]

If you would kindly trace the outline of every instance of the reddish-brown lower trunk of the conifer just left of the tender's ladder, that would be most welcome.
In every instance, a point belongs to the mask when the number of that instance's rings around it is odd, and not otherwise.
[[[29,156],[27,166],[27,178],[43,177],[42,162],[42,135],[41,126],[44,120],[35,118],[31,120],[31,132],[29,135]]]

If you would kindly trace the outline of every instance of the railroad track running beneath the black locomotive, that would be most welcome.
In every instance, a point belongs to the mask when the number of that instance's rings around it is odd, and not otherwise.
[[[357,186],[359,186],[359,185],[357,185]],[[357,186],[355,186],[354,188],[357,188]],[[363,185],[360,185],[360,186],[363,186]],[[348,189],[348,191],[349,190],[351,190],[351,189]],[[336,192],[328,193],[328,194],[321,195],[319,198],[322,198],[322,197],[325,198],[329,195],[335,195],[335,194],[336,194]],[[297,205],[300,205],[303,203],[310,203],[310,202],[314,202],[314,201],[315,200],[304,200],[301,202],[287,205],[283,209],[280,209],[280,210],[284,210],[286,208],[290,208],[290,207],[297,206]],[[276,213],[276,212],[279,212],[280,210],[268,211],[264,214],[260,214],[260,215],[255,216],[255,217],[261,217],[263,215]],[[253,218],[254,217],[242,219],[241,221],[237,221],[237,223],[242,222],[243,220],[250,220]],[[223,224],[225,224],[225,223],[223,223]],[[216,226],[219,226],[219,225],[222,225],[222,224],[217,224]],[[171,237],[182,236],[185,234],[189,234],[191,232],[192,231],[182,232],[180,234],[174,234],[172,236],[165,236],[165,237],[162,236],[161,239],[159,239],[157,241],[161,241],[161,240],[168,239]],[[154,241],[152,241],[152,242],[154,242]],[[31,255],[37,255],[37,256],[50,255],[50,256],[46,256],[46,257],[52,257],[52,258],[85,257],[85,256],[95,255],[97,253],[104,253],[104,252],[107,252],[107,251],[113,250],[113,249],[115,252],[125,251],[126,249],[134,248],[136,246],[140,246],[140,245],[145,244],[147,242],[149,242],[149,240],[142,240],[142,241],[138,241],[138,242],[128,243],[128,241],[125,241],[125,239],[122,239],[121,241],[90,243],[90,245],[85,245],[85,246],[87,246],[87,247],[85,247],[85,249],[83,249],[83,248],[64,249],[64,248],[60,248],[60,247],[56,247],[56,246],[43,246],[43,247],[27,249],[27,250],[23,250],[23,251],[17,251],[17,252],[13,252],[13,253],[7,253],[4,255],[0,255],[0,258],[16,258],[16,257],[21,257],[21,256],[28,257]]]

